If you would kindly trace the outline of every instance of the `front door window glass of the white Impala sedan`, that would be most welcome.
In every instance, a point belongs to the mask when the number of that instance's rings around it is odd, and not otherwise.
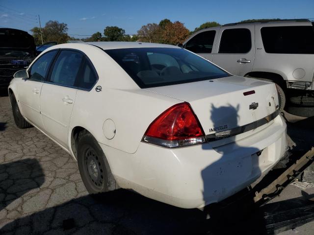
[[[57,50],[52,50],[38,58],[30,68],[29,78],[35,81],[45,81],[47,72],[56,53]]]

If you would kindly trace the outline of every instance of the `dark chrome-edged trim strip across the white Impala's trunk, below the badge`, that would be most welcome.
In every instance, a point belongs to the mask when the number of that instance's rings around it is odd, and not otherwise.
[[[257,121],[251,122],[249,124],[246,124],[243,126],[238,126],[238,127],[233,128],[233,129],[226,130],[226,131],[220,131],[220,132],[206,135],[206,141],[207,142],[218,141],[218,140],[222,140],[225,138],[229,138],[232,136],[236,136],[236,135],[251,131],[251,130],[256,129],[262,125],[267,124],[271,120],[275,119],[278,115],[279,115],[279,109],[277,109],[274,113],[272,113],[272,114],[270,114],[264,118],[261,118]]]

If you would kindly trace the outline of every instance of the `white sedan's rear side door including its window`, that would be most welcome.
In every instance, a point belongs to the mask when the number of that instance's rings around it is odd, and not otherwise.
[[[46,133],[66,149],[69,149],[69,124],[77,95],[75,82],[81,74],[83,59],[84,54],[78,50],[60,50],[40,96]]]

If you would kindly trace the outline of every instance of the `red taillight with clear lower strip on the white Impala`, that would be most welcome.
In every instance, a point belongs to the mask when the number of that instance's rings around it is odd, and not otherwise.
[[[189,103],[176,104],[148,127],[143,141],[164,147],[183,147],[205,142],[204,131]]]

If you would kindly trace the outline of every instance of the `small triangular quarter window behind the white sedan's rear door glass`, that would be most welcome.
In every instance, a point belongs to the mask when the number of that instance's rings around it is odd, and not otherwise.
[[[91,89],[97,81],[97,75],[95,73],[94,67],[91,65],[89,60],[85,59],[84,66],[80,74],[81,75],[77,76],[75,87],[84,90]]]

